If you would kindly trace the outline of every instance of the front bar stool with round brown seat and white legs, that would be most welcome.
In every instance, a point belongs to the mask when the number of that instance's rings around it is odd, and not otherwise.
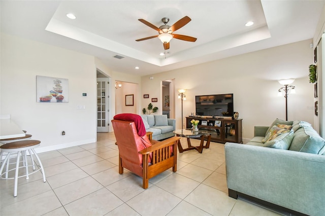
[[[41,143],[40,140],[29,139],[29,140],[10,142],[10,143],[6,143],[6,144],[0,146],[0,149],[1,149],[0,158],[2,158],[3,153],[8,153],[1,165],[1,168],[0,168],[0,178],[1,179],[13,179],[13,178],[15,179],[14,197],[17,196],[17,186],[18,186],[18,178],[19,177],[26,176],[26,179],[28,179],[29,174],[32,174],[32,173],[35,173],[35,172],[41,170],[41,172],[43,174],[43,181],[46,182],[45,172],[44,172],[42,162],[41,162],[39,156],[37,155],[36,151],[34,150],[34,148],[37,148],[40,146],[40,143]],[[36,165],[38,167],[38,169],[35,168],[35,162],[32,157],[31,157],[32,165],[28,165],[26,151],[29,151],[30,155],[31,155],[31,153],[34,153],[35,157],[37,158],[37,160],[39,162],[39,165]],[[17,153],[16,168],[8,170],[9,159],[10,159],[10,155],[12,153]],[[22,166],[19,166],[20,154],[22,154],[22,158],[24,160],[24,163]],[[3,173],[2,171],[4,170],[5,164],[7,164],[7,170],[6,170],[6,172]],[[28,173],[28,166],[32,166],[34,171],[31,173]],[[22,168],[22,167],[26,168],[26,174],[18,176],[19,168]],[[8,173],[12,170],[15,170],[15,177],[8,177]],[[3,175],[6,175],[6,176],[3,177]]]

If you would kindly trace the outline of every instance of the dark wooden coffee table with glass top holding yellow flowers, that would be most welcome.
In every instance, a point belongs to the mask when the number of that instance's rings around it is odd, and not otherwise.
[[[199,153],[202,153],[203,148],[209,149],[210,147],[210,140],[211,140],[211,133],[208,132],[202,132],[202,131],[197,131],[197,132],[192,132],[191,129],[179,129],[173,131],[176,136],[181,136],[181,137],[186,137],[187,138],[187,146],[188,148],[183,149],[180,140],[177,141],[177,146],[178,146],[178,151],[179,153],[195,149]],[[190,138],[199,138],[201,137],[201,142],[200,146],[192,146]],[[207,142],[206,145],[204,145],[204,138],[207,137]]]

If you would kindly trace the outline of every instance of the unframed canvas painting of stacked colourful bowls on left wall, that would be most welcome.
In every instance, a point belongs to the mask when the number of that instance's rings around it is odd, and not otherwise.
[[[37,102],[69,102],[68,79],[36,76]]]

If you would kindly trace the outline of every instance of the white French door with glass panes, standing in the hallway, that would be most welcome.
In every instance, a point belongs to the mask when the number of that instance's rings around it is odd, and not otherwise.
[[[109,132],[109,77],[97,69],[97,132]]]

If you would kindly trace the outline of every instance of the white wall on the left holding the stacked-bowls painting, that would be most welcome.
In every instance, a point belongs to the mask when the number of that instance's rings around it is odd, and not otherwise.
[[[2,34],[1,60],[1,114],[11,114],[33,139],[41,140],[39,151],[96,140],[93,56]],[[69,102],[36,102],[38,75],[68,79]]]

